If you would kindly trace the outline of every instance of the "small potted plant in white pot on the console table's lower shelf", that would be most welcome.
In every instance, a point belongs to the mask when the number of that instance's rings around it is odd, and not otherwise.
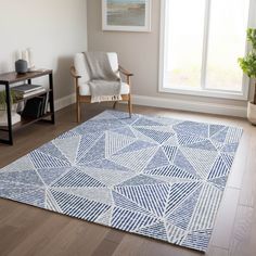
[[[11,90],[10,91],[10,101],[11,101],[11,115],[12,115],[12,125],[21,121],[21,115],[16,113],[17,110],[17,97]],[[8,125],[8,113],[7,113],[7,94],[5,90],[0,91],[0,126]]]

